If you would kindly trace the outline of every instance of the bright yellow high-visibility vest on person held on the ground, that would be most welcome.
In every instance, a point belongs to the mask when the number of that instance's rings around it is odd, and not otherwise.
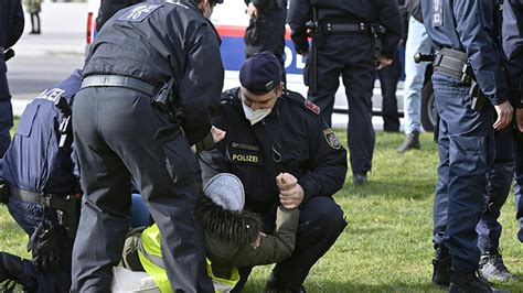
[[[140,237],[138,257],[146,272],[154,280],[162,293],[172,293],[171,283],[167,278],[166,265],[161,256],[161,235],[158,225],[143,230]],[[206,259],[206,271],[213,280],[215,292],[228,292],[239,281],[237,268],[231,271],[231,279],[217,278],[213,273],[211,261]]]

